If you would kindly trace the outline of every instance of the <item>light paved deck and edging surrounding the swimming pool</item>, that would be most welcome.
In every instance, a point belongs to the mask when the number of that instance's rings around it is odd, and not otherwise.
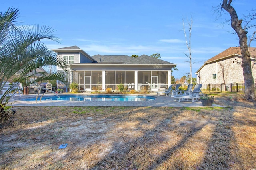
[[[60,94],[66,95],[68,93]],[[46,94],[52,95],[52,94]],[[46,96],[44,95],[44,96]],[[58,94],[59,95],[59,94]],[[76,95],[76,94],[74,94]],[[81,95],[79,93],[78,95]],[[84,95],[108,95],[108,94],[84,94]],[[21,101],[18,98],[36,97],[37,94],[28,94],[11,98],[9,102],[13,102],[12,106],[130,106],[130,107],[207,107],[202,106],[200,101],[192,103],[191,101],[182,101],[180,103],[174,102],[174,98],[170,96],[158,96],[157,93],[150,94],[111,94],[111,95],[136,95],[136,96],[153,96],[155,100],[151,101],[59,101],[59,100],[46,100],[46,101]],[[41,95],[40,95],[41,96]],[[40,100],[40,97],[38,97]],[[14,102],[15,101],[15,102]],[[226,107],[217,104],[212,104],[212,107]]]

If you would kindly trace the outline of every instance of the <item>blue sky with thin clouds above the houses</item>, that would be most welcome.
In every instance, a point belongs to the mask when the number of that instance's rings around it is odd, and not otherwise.
[[[44,41],[49,49],[77,45],[89,55],[152,55],[177,64],[175,78],[190,72],[183,20],[188,33],[192,16],[191,49],[193,77],[204,61],[229,47],[237,47],[237,35],[222,23],[229,14],[214,14],[220,0],[9,0],[1,2],[20,10],[20,25],[48,25],[60,43]],[[255,7],[255,0],[236,0],[241,17]],[[251,47],[256,47],[252,43]]]

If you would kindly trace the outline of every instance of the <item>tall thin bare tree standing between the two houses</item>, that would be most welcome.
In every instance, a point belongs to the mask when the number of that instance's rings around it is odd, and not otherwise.
[[[184,24],[184,20],[183,20],[183,30],[184,30],[184,34],[185,34],[185,39],[186,39],[186,45],[189,51],[189,54],[184,53],[188,58],[189,58],[189,65],[190,65],[190,83],[192,83],[192,56],[191,56],[191,31],[192,31],[192,24],[193,24],[193,19],[191,17],[190,22],[188,22],[188,33],[189,33],[189,42],[187,39],[187,35],[186,35],[186,30],[185,30],[185,24]]]

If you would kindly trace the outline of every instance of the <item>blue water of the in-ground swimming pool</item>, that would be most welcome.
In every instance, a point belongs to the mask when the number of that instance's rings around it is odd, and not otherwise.
[[[153,96],[126,96],[126,95],[74,95],[65,94],[58,96],[43,96],[42,100],[64,100],[64,101],[151,101]],[[22,98],[23,101],[35,101],[36,98]],[[40,100],[40,97],[37,99]]]

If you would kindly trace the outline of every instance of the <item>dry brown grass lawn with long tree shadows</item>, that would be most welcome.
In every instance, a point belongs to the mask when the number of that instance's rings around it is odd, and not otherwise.
[[[228,107],[17,107],[0,169],[256,169],[256,102],[214,103]]]

